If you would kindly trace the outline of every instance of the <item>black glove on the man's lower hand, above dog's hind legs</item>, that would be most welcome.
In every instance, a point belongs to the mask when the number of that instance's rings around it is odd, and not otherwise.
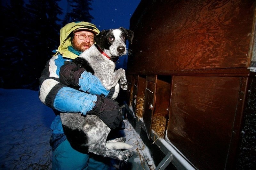
[[[103,94],[96,96],[96,105],[88,114],[98,116],[110,129],[116,129],[120,126],[123,128],[123,113],[118,102],[104,98]]]

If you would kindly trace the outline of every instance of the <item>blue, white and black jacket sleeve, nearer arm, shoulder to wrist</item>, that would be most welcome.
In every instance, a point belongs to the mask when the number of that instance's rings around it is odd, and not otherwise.
[[[60,83],[60,67],[64,64],[61,55],[47,61],[39,78],[39,99],[45,105],[61,112],[81,112],[92,110],[97,96],[81,92]]]

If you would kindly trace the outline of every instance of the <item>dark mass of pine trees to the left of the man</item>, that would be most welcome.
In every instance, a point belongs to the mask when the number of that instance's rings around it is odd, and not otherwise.
[[[52,50],[59,45],[60,0],[11,0],[1,6],[1,88],[38,89],[38,78]]]

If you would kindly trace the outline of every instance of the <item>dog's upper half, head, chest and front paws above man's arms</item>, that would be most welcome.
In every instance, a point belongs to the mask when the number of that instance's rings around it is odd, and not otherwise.
[[[81,64],[85,70],[92,72],[102,82],[103,86],[110,90],[120,80],[123,90],[127,89],[125,70],[115,70],[115,61],[127,53],[125,42],[132,43],[133,32],[124,28],[103,30],[94,37],[96,44],[85,50],[73,62]],[[104,54],[107,54],[108,59]]]

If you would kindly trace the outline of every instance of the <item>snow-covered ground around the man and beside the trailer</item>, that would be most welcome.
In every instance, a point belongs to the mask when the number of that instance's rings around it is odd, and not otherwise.
[[[26,89],[0,89],[0,161],[1,169],[51,169],[50,125],[55,115],[38,99],[38,92]],[[127,169],[155,167],[148,148],[131,124],[124,120],[126,143],[135,154]],[[128,166],[127,166],[128,167]]]

